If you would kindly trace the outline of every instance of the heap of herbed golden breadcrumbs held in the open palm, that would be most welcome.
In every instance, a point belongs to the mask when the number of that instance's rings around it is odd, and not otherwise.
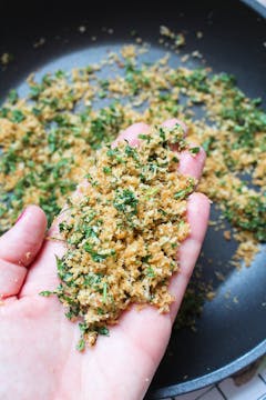
[[[171,150],[187,148],[183,130],[157,127],[141,134],[139,149],[127,141],[104,146],[88,167],[88,182],[60,214],[66,253],[58,259],[61,280],[54,293],[69,319],[81,319],[84,343],[108,334],[132,303],[167,312],[170,278],[178,269],[177,250],[188,236],[187,197],[195,181],[177,172]],[[48,296],[44,292],[44,296]]]

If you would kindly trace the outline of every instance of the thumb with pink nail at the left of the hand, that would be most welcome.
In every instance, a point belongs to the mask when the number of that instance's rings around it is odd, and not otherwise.
[[[0,238],[0,296],[16,296],[23,284],[27,267],[39,252],[47,230],[44,212],[28,207],[13,228]]]

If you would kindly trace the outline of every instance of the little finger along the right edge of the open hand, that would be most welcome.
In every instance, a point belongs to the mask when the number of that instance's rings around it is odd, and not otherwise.
[[[180,309],[202,248],[209,217],[209,204],[208,198],[202,193],[193,193],[190,196],[187,203],[187,221],[191,227],[191,233],[181,244],[178,252],[180,271],[173,277],[170,286],[170,292],[175,297],[175,302],[171,307],[172,322]]]

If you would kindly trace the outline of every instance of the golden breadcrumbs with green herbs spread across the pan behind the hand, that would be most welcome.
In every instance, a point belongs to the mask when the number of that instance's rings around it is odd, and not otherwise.
[[[135,31],[132,36],[142,42]],[[185,40],[163,27],[158,41],[178,53]],[[170,53],[151,63],[149,51],[149,43],[125,46],[98,64],[31,74],[27,97],[10,91],[0,108],[0,232],[31,203],[41,206],[51,223],[98,148],[131,123],[154,126],[174,117],[188,127],[188,140],[207,153],[198,189],[222,211],[214,229],[227,230],[224,219],[233,227],[232,239],[239,246],[232,263],[252,264],[259,242],[266,241],[266,113],[260,99],[247,98],[228,73],[191,68],[190,53],[181,53],[174,60],[181,67],[173,68]],[[100,108],[99,101],[104,102]],[[188,296],[188,311],[198,309],[197,290]],[[190,312],[183,309],[186,322]]]

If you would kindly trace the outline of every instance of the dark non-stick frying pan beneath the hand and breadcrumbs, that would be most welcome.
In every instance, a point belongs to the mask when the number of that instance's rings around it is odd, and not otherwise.
[[[8,51],[14,59],[0,72],[0,100],[11,88],[23,94],[23,81],[32,71],[41,76],[59,68],[68,70],[99,61],[106,49],[115,50],[117,44],[132,41],[132,29],[152,43],[149,57],[156,59],[165,52],[157,43],[158,27],[164,24],[186,32],[186,52],[198,50],[214,72],[235,74],[241,89],[252,98],[262,97],[265,107],[263,7],[255,1],[225,0],[143,3],[38,2],[25,8],[1,1],[0,54]],[[86,32],[81,34],[78,27],[83,24]],[[102,32],[101,27],[112,28],[113,34]],[[196,39],[196,31],[204,33],[202,40]],[[91,41],[92,36],[98,37],[95,42]],[[34,49],[32,44],[40,38],[45,43]],[[177,66],[178,57],[172,62]],[[197,62],[193,61],[191,67]],[[212,219],[218,214],[213,207]],[[196,333],[185,328],[173,330],[149,399],[172,397],[214,383],[266,352],[266,249],[262,247],[250,268],[237,271],[228,267],[235,248],[234,241],[225,242],[222,232],[209,228],[203,247],[205,256],[198,262],[203,264],[202,281],[212,279],[217,294],[204,303],[202,317],[196,319]],[[216,280],[215,270],[223,272],[225,281]]]

